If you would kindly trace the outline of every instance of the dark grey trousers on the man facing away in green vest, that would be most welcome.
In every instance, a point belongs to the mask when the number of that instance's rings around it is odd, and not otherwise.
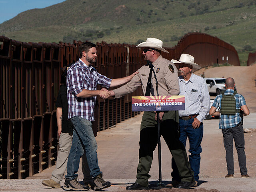
[[[223,142],[226,150],[228,174],[234,174],[233,139],[236,145],[238,163],[241,175],[247,174],[246,155],[244,152],[244,129],[242,125],[222,129]]]

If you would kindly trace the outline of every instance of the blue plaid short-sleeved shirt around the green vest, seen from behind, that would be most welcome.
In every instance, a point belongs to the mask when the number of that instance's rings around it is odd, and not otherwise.
[[[232,95],[234,93],[234,90],[232,89],[227,89],[224,94],[225,95]],[[220,107],[221,108],[221,99],[222,99],[222,94],[218,95],[212,106],[215,108]],[[235,99],[236,99],[236,109],[240,109],[241,106],[246,105],[244,96],[241,94],[235,94]],[[220,114],[220,129],[226,129],[226,128],[231,128],[236,126],[238,123],[242,121],[242,118],[240,117],[240,113],[236,113],[235,115],[222,115]]]

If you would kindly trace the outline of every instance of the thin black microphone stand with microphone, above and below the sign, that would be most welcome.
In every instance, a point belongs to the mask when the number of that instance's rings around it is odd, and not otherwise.
[[[158,94],[158,81],[156,78],[156,73],[154,71],[153,64],[148,61],[148,66],[150,69],[152,69],[152,72],[154,73],[154,77],[156,79],[156,96],[159,96]],[[164,183],[162,183],[162,159],[161,159],[161,135],[160,135],[160,117],[159,117],[160,111],[156,111],[157,114],[157,128],[158,128],[158,170],[159,170],[159,182],[156,187],[152,187],[153,189],[160,189],[160,188],[172,188],[172,187],[166,187]]]

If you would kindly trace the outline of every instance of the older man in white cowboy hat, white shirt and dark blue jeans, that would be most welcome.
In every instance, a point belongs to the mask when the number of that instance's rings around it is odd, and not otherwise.
[[[192,73],[192,69],[201,67],[194,62],[194,57],[189,54],[181,54],[180,60],[171,60],[179,65],[180,94],[185,96],[185,110],[179,111],[180,118],[180,141],[186,146],[189,141],[190,155],[188,156],[191,168],[194,172],[194,179],[197,186],[200,169],[200,153],[202,152],[201,142],[203,138],[203,120],[209,113],[210,95],[205,80]],[[172,158],[172,186],[180,183],[180,176],[176,162]]]

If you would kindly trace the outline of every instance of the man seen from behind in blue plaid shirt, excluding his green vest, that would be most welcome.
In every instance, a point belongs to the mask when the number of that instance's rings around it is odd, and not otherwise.
[[[235,85],[236,84],[233,78],[227,78],[225,83],[226,91],[224,94],[232,95],[234,93]],[[246,106],[244,97],[241,94],[235,94],[234,97],[236,99],[236,109],[242,108],[242,114],[244,116],[249,115],[250,111]],[[225,176],[225,178],[234,177],[233,139],[236,144],[241,176],[242,178],[248,178],[249,175],[247,174],[246,168],[246,155],[244,152],[244,129],[241,125],[242,118],[240,117],[239,112],[236,112],[235,115],[226,115],[220,114],[220,112],[216,112],[218,107],[221,108],[222,98],[222,94],[215,98],[214,103],[210,108],[210,115],[220,115],[219,128],[222,129],[223,142],[226,150],[226,162],[228,167],[228,174]]]

